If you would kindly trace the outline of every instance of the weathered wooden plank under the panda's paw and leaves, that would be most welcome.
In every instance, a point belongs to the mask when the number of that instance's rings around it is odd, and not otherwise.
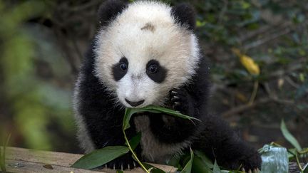
[[[86,170],[75,169],[71,165],[76,162],[82,154],[69,154],[63,152],[46,152],[29,150],[16,147],[8,147],[6,150],[6,170],[7,172],[116,172],[113,169],[101,169],[101,170]],[[165,172],[176,172],[175,167],[166,165],[153,164]],[[125,173],[139,173],[143,172],[140,168],[124,171]]]

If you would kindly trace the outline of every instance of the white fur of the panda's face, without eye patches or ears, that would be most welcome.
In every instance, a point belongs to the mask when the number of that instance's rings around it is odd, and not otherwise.
[[[136,1],[98,33],[96,75],[125,107],[131,108],[125,98],[145,100],[138,107],[161,105],[170,88],[187,83],[195,74],[197,38],[176,24],[170,10],[158,1]],[[111,68],[123,56],[128,58],[128,73],[115,81]],[[155,83],[146,75],[145,65],[151,59],[168,69],[164,83]]]

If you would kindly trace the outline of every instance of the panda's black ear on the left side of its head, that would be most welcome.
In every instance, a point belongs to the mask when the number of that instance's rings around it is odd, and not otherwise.
[[[98,9],[98,19],[101,26],[107,26],[116,16],[120,14],[126,7],[127,3],[120,0],[107,0]]]

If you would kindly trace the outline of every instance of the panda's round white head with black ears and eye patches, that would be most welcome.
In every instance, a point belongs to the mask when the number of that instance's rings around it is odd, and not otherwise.
[[[95,73],[128,108],[163,105],[199,62],[195,14],[187,4],[106,1],[99,10]]]

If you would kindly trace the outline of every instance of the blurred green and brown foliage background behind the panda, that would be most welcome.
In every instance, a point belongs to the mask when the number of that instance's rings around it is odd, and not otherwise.
[[[72,90],[102,0],[0,0],[0,136],[10,145],[81,152]],[[181,1],[166,1],[171,5]],[[210,112],[255,147],[308,146],[308,1],[190,1],[210,60]]]

